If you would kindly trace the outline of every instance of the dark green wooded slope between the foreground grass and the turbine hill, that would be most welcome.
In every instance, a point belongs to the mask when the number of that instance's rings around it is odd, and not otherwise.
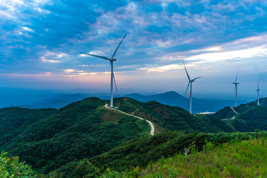
[[[219,134],[182,134],[177,132],[164,132],[155,136],[140,137],[126,141],[106,153],[95,156],[91,159],[84,159],[80,162],[73,162],[59,168],[57,172],[66,175],[66,178],[90,178],[103,173],[106,169],[117,172],[128,172],[133,167],[146,168],[150,161],[160,162],[162,157],[173,157],[176,153],[184,153],[184,148],[190,147],[192,143],[198,151],[203,150],[205,140],[218,146],[222,143],[236,142],[250,138],[267,136],[266,132],[261,133],[219,133]],[[90,163],[90,164],[89,164]],[[92,164],[92,165],[91,165]]]

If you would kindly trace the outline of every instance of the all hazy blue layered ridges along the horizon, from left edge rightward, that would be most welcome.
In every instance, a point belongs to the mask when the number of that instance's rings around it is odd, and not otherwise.
[[[91,90],[91,89],[74,89],[74,90],[63,90],[64,92],[59,92],[60,90],[27,90],[27,89],[3,89],[0,88],[0,92],[5,95],[0,96],[0,107],[25,107],[25,108],[61,108],[70,104],[72,102],[82,100],[86,97],[96,96],[100,99],[110,99],[110,93],[101,92],[102,90]],[[13,93],[11,91],[14,91]],[[88,93],[92,91],[92,93]],[[104,91],[104,90],[103,90]],[[69,93],[67,93],[69,92]],[[76,92],[76,93],[75,93]],[[20,93],[20,94],[19,94]],[[49,97],[50,96],[50,97]],[[132,97],[138,101],[146,102],[155,100],[162,104],[167,104],[170,106],[179,106],[183,109],[189,110],[189,98],[185,98],[175,91],[168,91],[165,93],[156,94],[155,92],[139,92],[131,94],[117,94],[116,97]],[[241,103],[246,103],[248,101],[240,101]],[[192,112],[202,113],[202,112],[217,112],[221,108],[232,105],[233,100],[227,99],[201,99],[192,98]]]

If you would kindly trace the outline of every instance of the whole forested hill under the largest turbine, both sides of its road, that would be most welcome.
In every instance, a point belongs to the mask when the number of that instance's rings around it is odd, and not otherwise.
[[[153,122],[162,131],[231,132],[215,117],[195,117],[180,107],[156,101],[114,100],[119,110]],[[85,98],[58,109],[0,109],[0,150],[20,157],[37,172],[48,173],[84,158],[107,152],[136,137],[150,137],[144,120],[104,107],[108,100]]]

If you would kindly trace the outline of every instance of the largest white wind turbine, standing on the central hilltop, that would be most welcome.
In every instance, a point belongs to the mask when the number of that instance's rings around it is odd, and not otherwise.
[[[114,73],[113,73],[113,61],[115,61],[117,59],[114,59],[113,57],[116,55],[117,50],[120,47],[120,45],[122,44],[122,41],[124,40],[126,35],[127,34],[124,35],[123,39],[121,40],[120,44],[118,45],[118,47],[116,48],[116,50],[112,54],[111,58],[108,58],[108,57],[105,57],[105,56],[99,56],[99,55],[94,55],[94,54],[90,54],[90,53],[81,52],[82,54],[87,54],[87,55],[91,55],[91,56],[94,56],[94,57],[99,57],[99,58],[106,59],[106,60],[110,61],[110,64],[111,64],[110,107],[113,107],[113,80],[114,80],[114,83],[115,83],[116,90],[118,92],[117,85],[116,85],[116,82],[115,82]]]

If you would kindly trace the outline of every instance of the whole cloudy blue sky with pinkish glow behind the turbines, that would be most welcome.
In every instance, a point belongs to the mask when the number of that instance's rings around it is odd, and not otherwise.
[[[266,0],[0,0],[0,87],[267,96]]]

